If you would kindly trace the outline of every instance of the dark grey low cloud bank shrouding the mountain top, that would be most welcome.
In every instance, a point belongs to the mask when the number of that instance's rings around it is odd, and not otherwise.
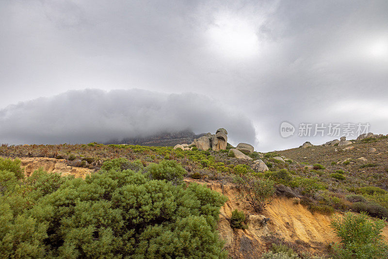
[[[219,102],[194,93],[139,89],[87,89],[19,102],[0,110],[0,142],[88,143],[191,129],[223,127],[231,142],[255,141],[251,121]]]

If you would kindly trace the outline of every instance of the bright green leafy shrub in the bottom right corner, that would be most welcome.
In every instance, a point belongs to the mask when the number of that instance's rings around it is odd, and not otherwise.
[[[388,246],[381,235],[384,221],[372,221],[365,214],[347,212],[343,217],[334,218],[330,226],[341,240],[340,244],[334,246],[336,258],[388,258]]]

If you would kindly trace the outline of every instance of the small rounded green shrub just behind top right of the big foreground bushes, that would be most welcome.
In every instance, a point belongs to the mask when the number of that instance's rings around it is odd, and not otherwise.
[[[153,179],[163,180],[173,182],[174,184],[179,184],[183,180],[183,175],[186,173],[186,170],[174,160],[164,160],[159,164],[150,163],[146,170],[150,173]]]

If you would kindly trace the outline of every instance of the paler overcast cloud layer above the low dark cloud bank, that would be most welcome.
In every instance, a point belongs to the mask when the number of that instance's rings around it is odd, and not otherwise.
[[[285,120],[388,133],[387,13],[386,0],[5,0],[2,107],[136,87],[211,96],[252,119],[260,151],[326,141],[282,139]]]

